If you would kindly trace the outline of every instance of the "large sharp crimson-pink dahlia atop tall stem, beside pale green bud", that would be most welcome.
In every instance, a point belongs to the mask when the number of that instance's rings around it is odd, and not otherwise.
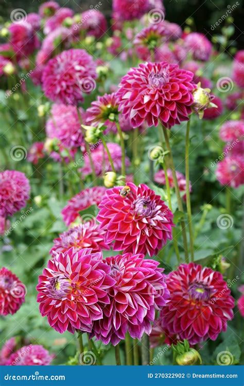
[[[188,120],[193,104],[193,73],[176,64],[143,63],[121,79],[117,97],[119,111],[130,118],[133,127],[144,121],[170,128]]]

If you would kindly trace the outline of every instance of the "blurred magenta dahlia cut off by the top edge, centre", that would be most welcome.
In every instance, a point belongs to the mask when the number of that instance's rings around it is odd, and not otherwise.
[[[139,19],[149,8],[148,0],[113,0],[115,20]]]

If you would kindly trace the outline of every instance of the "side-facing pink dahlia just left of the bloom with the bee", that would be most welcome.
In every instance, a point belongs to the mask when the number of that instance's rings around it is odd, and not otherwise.
[[[71,225],[82,210],[88,209],[92,205],[100,204],[106,190],[103,186],[86,188],[71,198],[61,212],[65,224],[67,226]]]

